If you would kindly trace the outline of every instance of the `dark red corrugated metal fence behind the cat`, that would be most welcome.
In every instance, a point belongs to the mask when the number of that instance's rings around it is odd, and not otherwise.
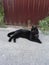
[[[21,23],[30,19],[36,24],[49,15],[49,0],[3,0],[6,24]]]

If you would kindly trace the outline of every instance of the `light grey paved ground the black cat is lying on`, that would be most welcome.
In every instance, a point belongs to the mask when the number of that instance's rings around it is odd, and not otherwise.
[[[8,42],[7,33],[15,28],[0,28],[0,65],[49,65],[49,35],[40,32],[42,44],[17,39]]]

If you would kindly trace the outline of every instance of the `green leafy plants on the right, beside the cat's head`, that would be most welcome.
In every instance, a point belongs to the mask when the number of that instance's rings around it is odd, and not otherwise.
[[[49,16],[42,19],[42,20],[39,20],[39,26],[40,26],[40,30],[43,32],[43,33],[47,33],[49,34]]]

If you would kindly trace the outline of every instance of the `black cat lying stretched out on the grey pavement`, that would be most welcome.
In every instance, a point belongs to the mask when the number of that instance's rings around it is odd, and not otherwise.
[[[18,38],[26,38],[30,41],[41,43],[39,40],[39,31],[38,28],[35,26],[32,26],[31,31],[19,29],[13,32],[8,33],[9,42],[13,39],[14,42],[16,42],[16,39]]]

